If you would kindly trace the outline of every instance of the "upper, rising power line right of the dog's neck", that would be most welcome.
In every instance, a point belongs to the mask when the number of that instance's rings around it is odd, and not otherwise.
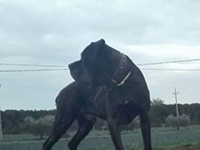
[[[200,59],[173,60],[173,61],[164,61],[164,62],[155,62],[155,63],[143,63],[143,64],[137,64],[137,65],[149,66],[149,65],[162,65],[162,64],[184,63],[184,62],[194,62],[194,61],[200,61]]]

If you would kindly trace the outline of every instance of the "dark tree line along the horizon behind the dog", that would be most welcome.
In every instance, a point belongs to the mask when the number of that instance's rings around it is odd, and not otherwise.
[[[200,104],[178,104],[180,114],[180,125],[200,124]],[[50,133],[56,110],[5,110],[1,112],[2,129],[4,134],[31,133],[40,135]],[[161,99],[153,99],[150,108],[150,119],[152,127],[175,126],[176,107],[175,104],[164,104]],[[96,130],[106,129],[106,123],[97,119]],[[123,126],[122,130],[133,130],[139,128],[136,118],[132,123]],[[73,123],[70,130],[76,130],[77,123]]]

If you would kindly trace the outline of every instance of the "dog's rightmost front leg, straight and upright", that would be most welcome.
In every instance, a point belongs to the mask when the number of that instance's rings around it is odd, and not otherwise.
[[[145,150],[152,150],[151,148],[151,126],[149,114],[144,112],[140,114],[140,126],[142,130],[142,137]]]

